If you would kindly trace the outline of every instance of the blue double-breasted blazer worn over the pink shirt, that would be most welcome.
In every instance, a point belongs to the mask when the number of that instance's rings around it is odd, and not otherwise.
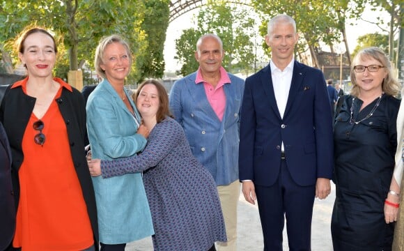
[[[222,121],[212,109],[202,83],[196,84],[196,72],[174,83],[170,109],[184,128],[192,153],[209,170],[217,185],[238,179],[240,108],[244,80],[228,73],[231,83],[224,84],[226,109]]]

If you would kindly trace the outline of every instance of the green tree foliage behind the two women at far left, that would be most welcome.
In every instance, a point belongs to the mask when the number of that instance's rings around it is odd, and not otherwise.
[[[132,66],[129,83],[136,83],[144,78],[143,69],[164,68],[161,54],[164,45],[150,43],[147,40],[148,30],[153,25],[146,22],[164,23],[169,15],[168,1],[146,0],[22,0],[3,1],[0,6],[0,44],[3,47],[4,56],[10,54],[17,63],[17,56],[10,45],[24,27],[36,24],[54,32],[59,43],[59,60],[56,64],[55,75],[66,78],[68,70],[77,70],[85,61],[93,68],[94,53],[100,39],[113,33],[120,34],[129,43],[136,59]],[[148,3],[148,5],[145,3]],[[157,6],[157,3],[160,5]],[[161,8],[153,10],[153,8]],[[146,12],[146,10],[148,12]],[[155,13],[151,13],[153,10]],[[148,18],[154,15],[153,18]],[[163,20],[163,21],[161,21]],[[166,26],[160,30],[153,27],[152,32],[164,34]],[[153,36],[151,36],[153,38]],[[165,38],[165,37],[164,37]],[[155,46],[155,47],[153,47]],[[150,55],[149,52],[153,52]],[[157,59],[149,60],[148,57],[156,56]],[[146,61],[146,59],[148,59]],[[148,64],[158,62],[157,66]],[[68,67],[66,67],[68,66]],[[153,72],[150,71],[150,72]],[[162,76],[160,70],[155,70],[153,77]]]

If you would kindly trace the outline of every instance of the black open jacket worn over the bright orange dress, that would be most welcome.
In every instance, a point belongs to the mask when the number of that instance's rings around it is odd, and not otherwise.
[[[88,216],[93,227],[95,249],[98,250],[98,221],[95,206],[95,193],[91,175],[88,171],[86,155],[84,152],[84,136],[86,135],[86,109],[84,98],[77,89],[63,89],[61,97],[56,99],[59,110],[68,130],[70,152],[75,165],[77,178],[81,185],[84,201],[86,201]],[[0,107],[0,121],[3,123],[10,142],[13,162],[11,175],[15,195],[15,207],[20,200],[20,182],[18,170],[22,165],[24,153],[22,152],[22,137],[29,118],[32,114],[36,98],[27,96],[22,87],[6,90]],[[52,188],[49,188],[52,189]],[[63,226],[61,226],[63,227]]]

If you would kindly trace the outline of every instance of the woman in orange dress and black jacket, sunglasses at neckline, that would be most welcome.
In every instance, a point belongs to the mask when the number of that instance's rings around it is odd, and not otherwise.
[[[1,102],[12,151],[15,250],[98,250],[95,193],[84,152],[81,93],[53,77],[57,46],[47,30],[26,29],[17,52],[27,77]]]

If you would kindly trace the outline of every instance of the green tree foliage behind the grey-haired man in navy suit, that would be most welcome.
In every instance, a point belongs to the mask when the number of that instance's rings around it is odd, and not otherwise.
[[[357,0],[363,2],[362,0]],[[297,32],[300,33],[300,41],[297,45],[297,58],[300,61],[309,63],[303,56],[309,49],[312,64],[319,67],[317,52],[320,51],[320,42],[331,47],[342,40],[345,42],[345,50],[349,52],[348,42],[345,35],[345,19],[356,17],[362,13],[364,6],[353,4],[349,0],[279,0],[265,1],[255,0],[252,5],[257,13],[260,13],[263,25],[275,15],[285,13],[293,17],[297,24]],[[266,29],[261,30],[261,35],[267,33]],[[349,59],[350,60],[350,59]]]

